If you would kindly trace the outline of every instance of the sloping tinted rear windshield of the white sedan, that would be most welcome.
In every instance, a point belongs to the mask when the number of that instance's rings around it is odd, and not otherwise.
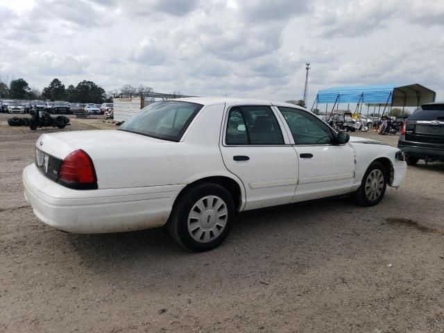
[[[202,106],[182,101],[151,103],[123,123],[119,130],[178,142]]]

